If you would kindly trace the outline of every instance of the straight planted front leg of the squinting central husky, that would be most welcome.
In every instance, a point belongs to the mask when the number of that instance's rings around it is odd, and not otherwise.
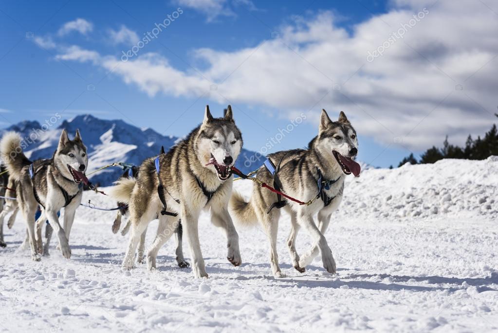
[[[182,200],[185,202],[185,200]],[[204,258],[202,257],[201,244],[199,242],[199,211],[190,210],[182,205],[182,225],[185,230],[185,237],[190,246],[190,256],[192,257],[192,271],[196,278],[207,278]]]

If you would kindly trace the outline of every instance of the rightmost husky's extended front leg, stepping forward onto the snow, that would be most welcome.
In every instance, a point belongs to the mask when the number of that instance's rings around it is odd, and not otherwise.
[[[336,262],[334,257],[332,256],[332,251],[330,250],[329,244],[327,243],[327,239],[320,232],[315,222],[313,221],[313,215],[308,214],[304,209],[301,209],[297,214],[297,222],[301,227],[305,228],[310,234],[311,238],[315,240],[315,246],[320,249],[322,254],[323,267],[327,270],[327,272],[335,274],[336,273]],[[305,258],[303,258],[305,259]],[[306,267],[303,259],[300,260],[299,266]]]

